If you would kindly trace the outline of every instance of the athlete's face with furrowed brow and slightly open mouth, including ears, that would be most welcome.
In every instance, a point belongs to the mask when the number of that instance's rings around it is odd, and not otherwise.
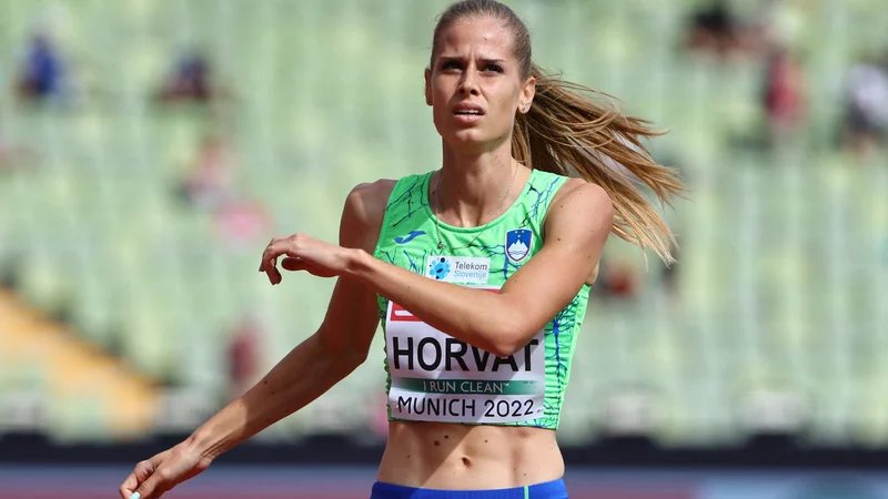
[[[515,113],[534,95],[512,50],[512,33],[495,18],[454,22],[438,33],[425,72],[425,100],[452,147],[483,152],[511,139]]]

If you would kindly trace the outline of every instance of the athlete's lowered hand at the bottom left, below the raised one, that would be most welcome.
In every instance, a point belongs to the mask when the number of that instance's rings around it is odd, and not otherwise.
[[[120,486],[120,497],[159,499],[173,487],[203,472],[210,462],[211,458],[203,456],[186,441],[179,444],[138,464]]]

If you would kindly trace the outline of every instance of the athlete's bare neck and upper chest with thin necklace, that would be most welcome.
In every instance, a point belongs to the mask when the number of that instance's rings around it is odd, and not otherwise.
[[[512,159],[511,144],[480,154],[444,145],[444,164],[432,180],[432,208],[442,222],[484,225],[502,215],[521,194],[529,170]]]

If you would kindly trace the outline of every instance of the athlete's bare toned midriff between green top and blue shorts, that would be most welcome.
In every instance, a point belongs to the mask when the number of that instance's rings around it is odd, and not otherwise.
[[[443,490],[490,490],[564,475],[555,431],[514,426],[390,421],[381,482]]]

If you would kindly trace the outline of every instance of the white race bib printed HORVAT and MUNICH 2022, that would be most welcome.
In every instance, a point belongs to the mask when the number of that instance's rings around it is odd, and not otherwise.
[[[515,355],[496,357],[435,329],[393,302],[385,329],[393,418],[496,424],[543,416],[542,330]]]

